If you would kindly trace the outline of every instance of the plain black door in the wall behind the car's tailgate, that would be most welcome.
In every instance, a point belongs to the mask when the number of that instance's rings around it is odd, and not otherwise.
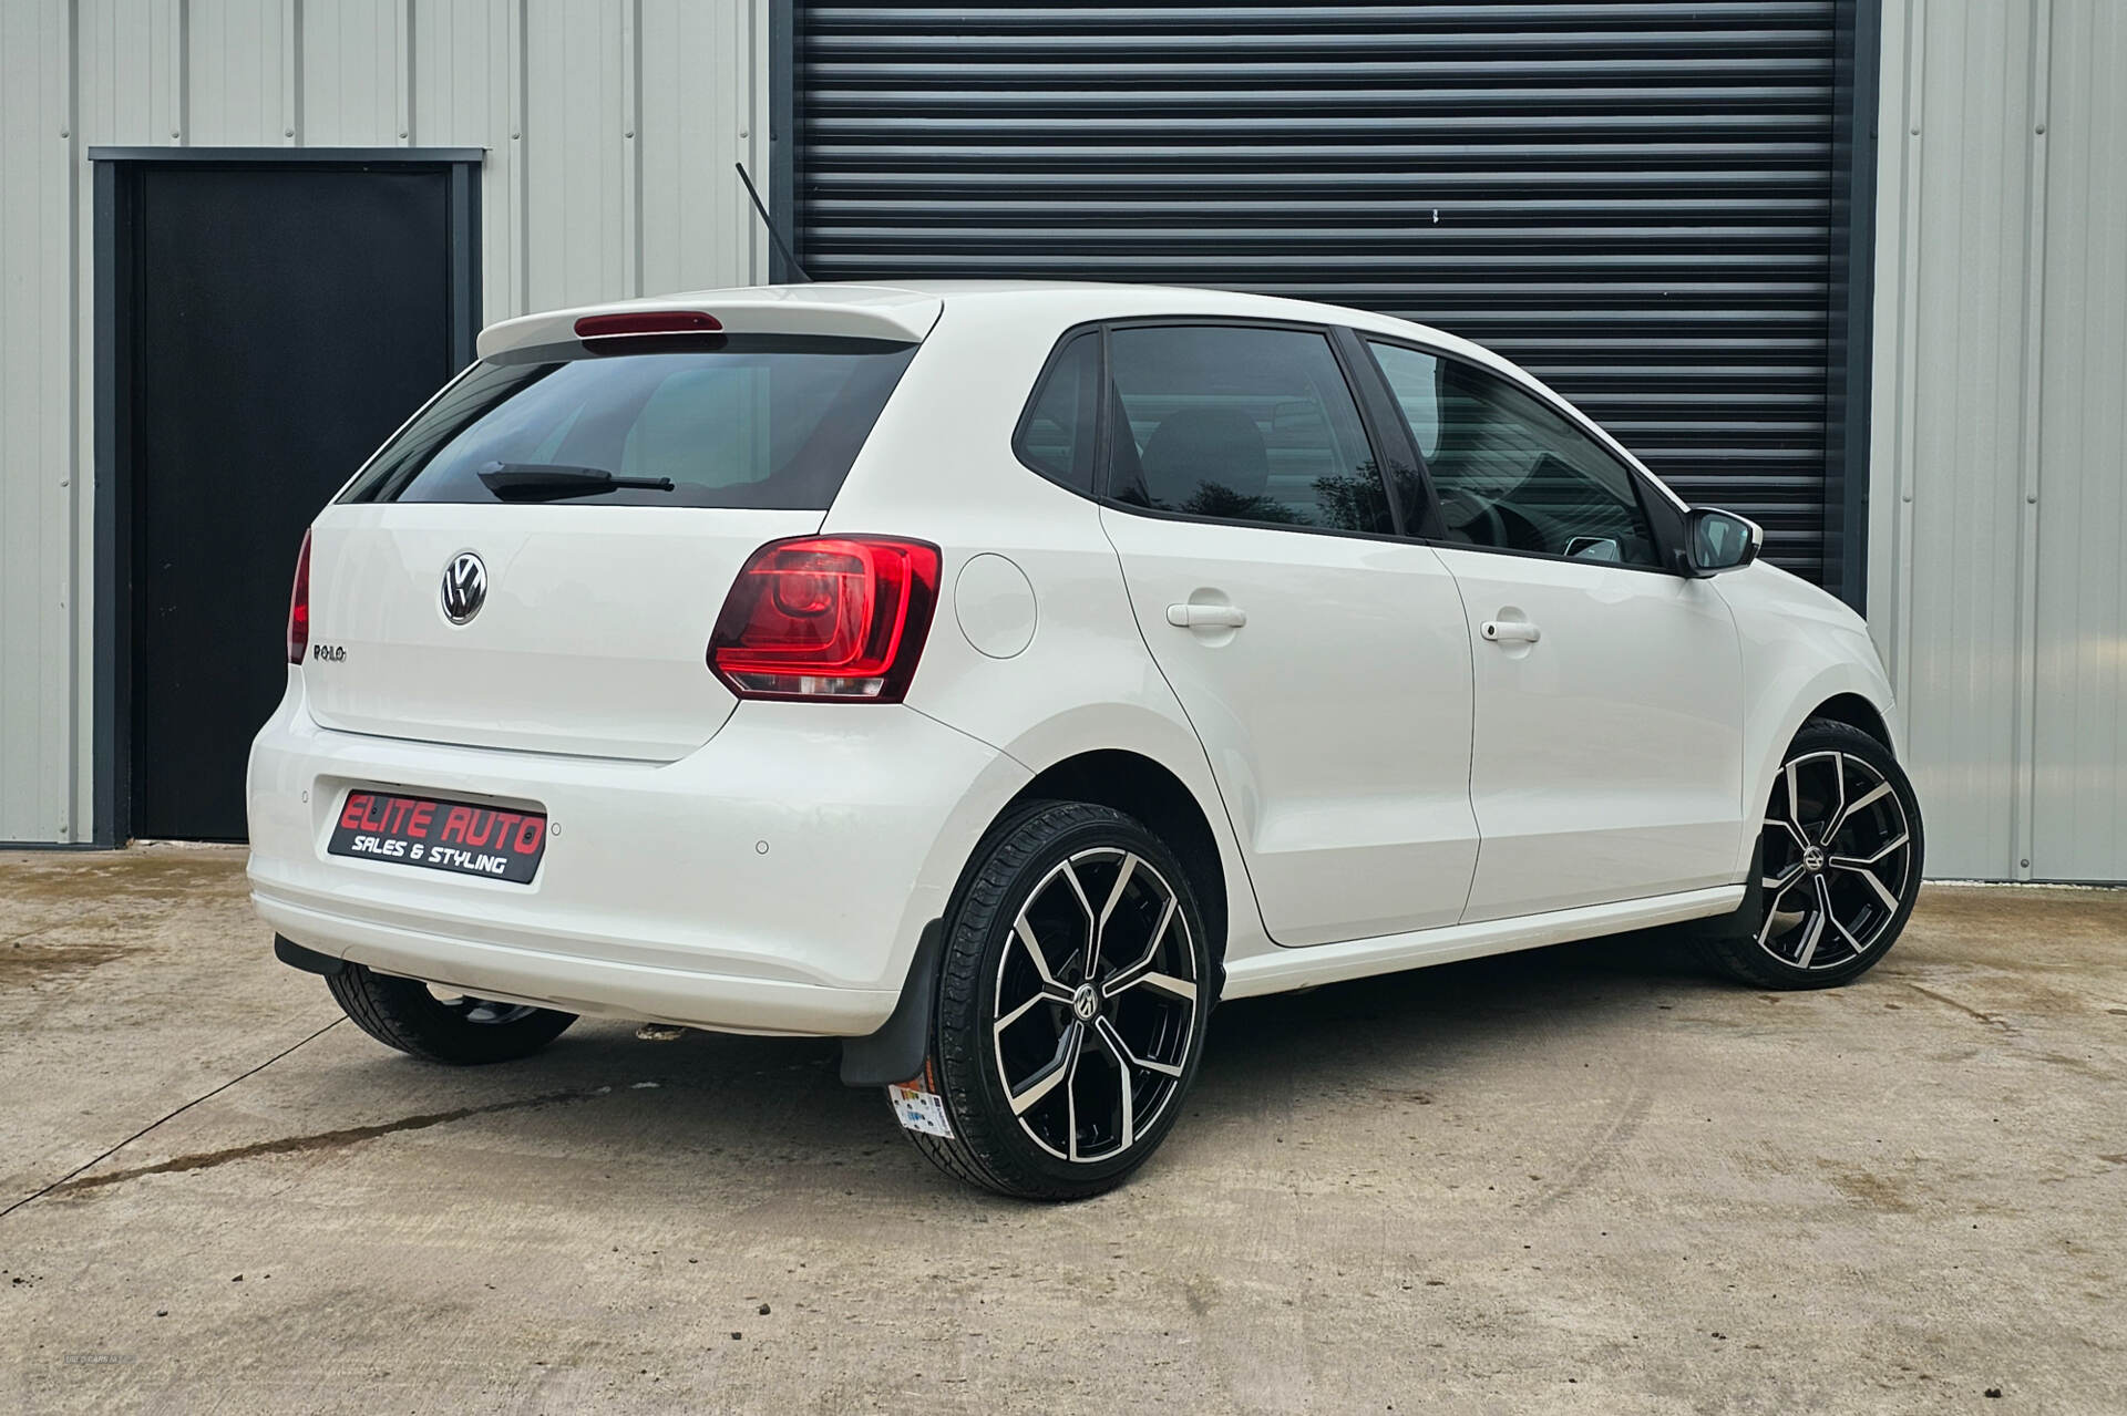
[[[134,836],[245,836],[245,755],[285,685],[302,532],[451,374],[449,183],[389,168],[138,172]]]

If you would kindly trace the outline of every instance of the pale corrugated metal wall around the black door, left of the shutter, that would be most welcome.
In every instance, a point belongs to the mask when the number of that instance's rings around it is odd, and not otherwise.
[[[485,319],[766,279],[766,0],[0,0],[0,842],[91,833],[89,147],[485,147]]]

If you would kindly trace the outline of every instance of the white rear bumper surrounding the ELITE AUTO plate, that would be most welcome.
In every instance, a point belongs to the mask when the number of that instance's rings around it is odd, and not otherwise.
[[[302,672],[251,748],[251,899],[304,948],[483,997],[864,1035],[1027,772],[904,706],[744,704],[674,763],[319,727]],[[351,787],[538,806],[530,884],[325,855]]]

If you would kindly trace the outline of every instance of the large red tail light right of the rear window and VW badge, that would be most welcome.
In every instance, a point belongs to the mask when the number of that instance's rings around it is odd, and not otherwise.
[[[898,704],[938,604],[938,546],[885,536],[772,540],[738,572],[708,668],[738,697]]]

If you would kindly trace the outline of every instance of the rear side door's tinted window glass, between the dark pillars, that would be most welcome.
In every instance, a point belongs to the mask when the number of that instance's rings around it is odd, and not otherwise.
[[[1391,534],[1389,500],[1329,340],[1246,325],[1108,334],[1108,491],[1191,517]]]

